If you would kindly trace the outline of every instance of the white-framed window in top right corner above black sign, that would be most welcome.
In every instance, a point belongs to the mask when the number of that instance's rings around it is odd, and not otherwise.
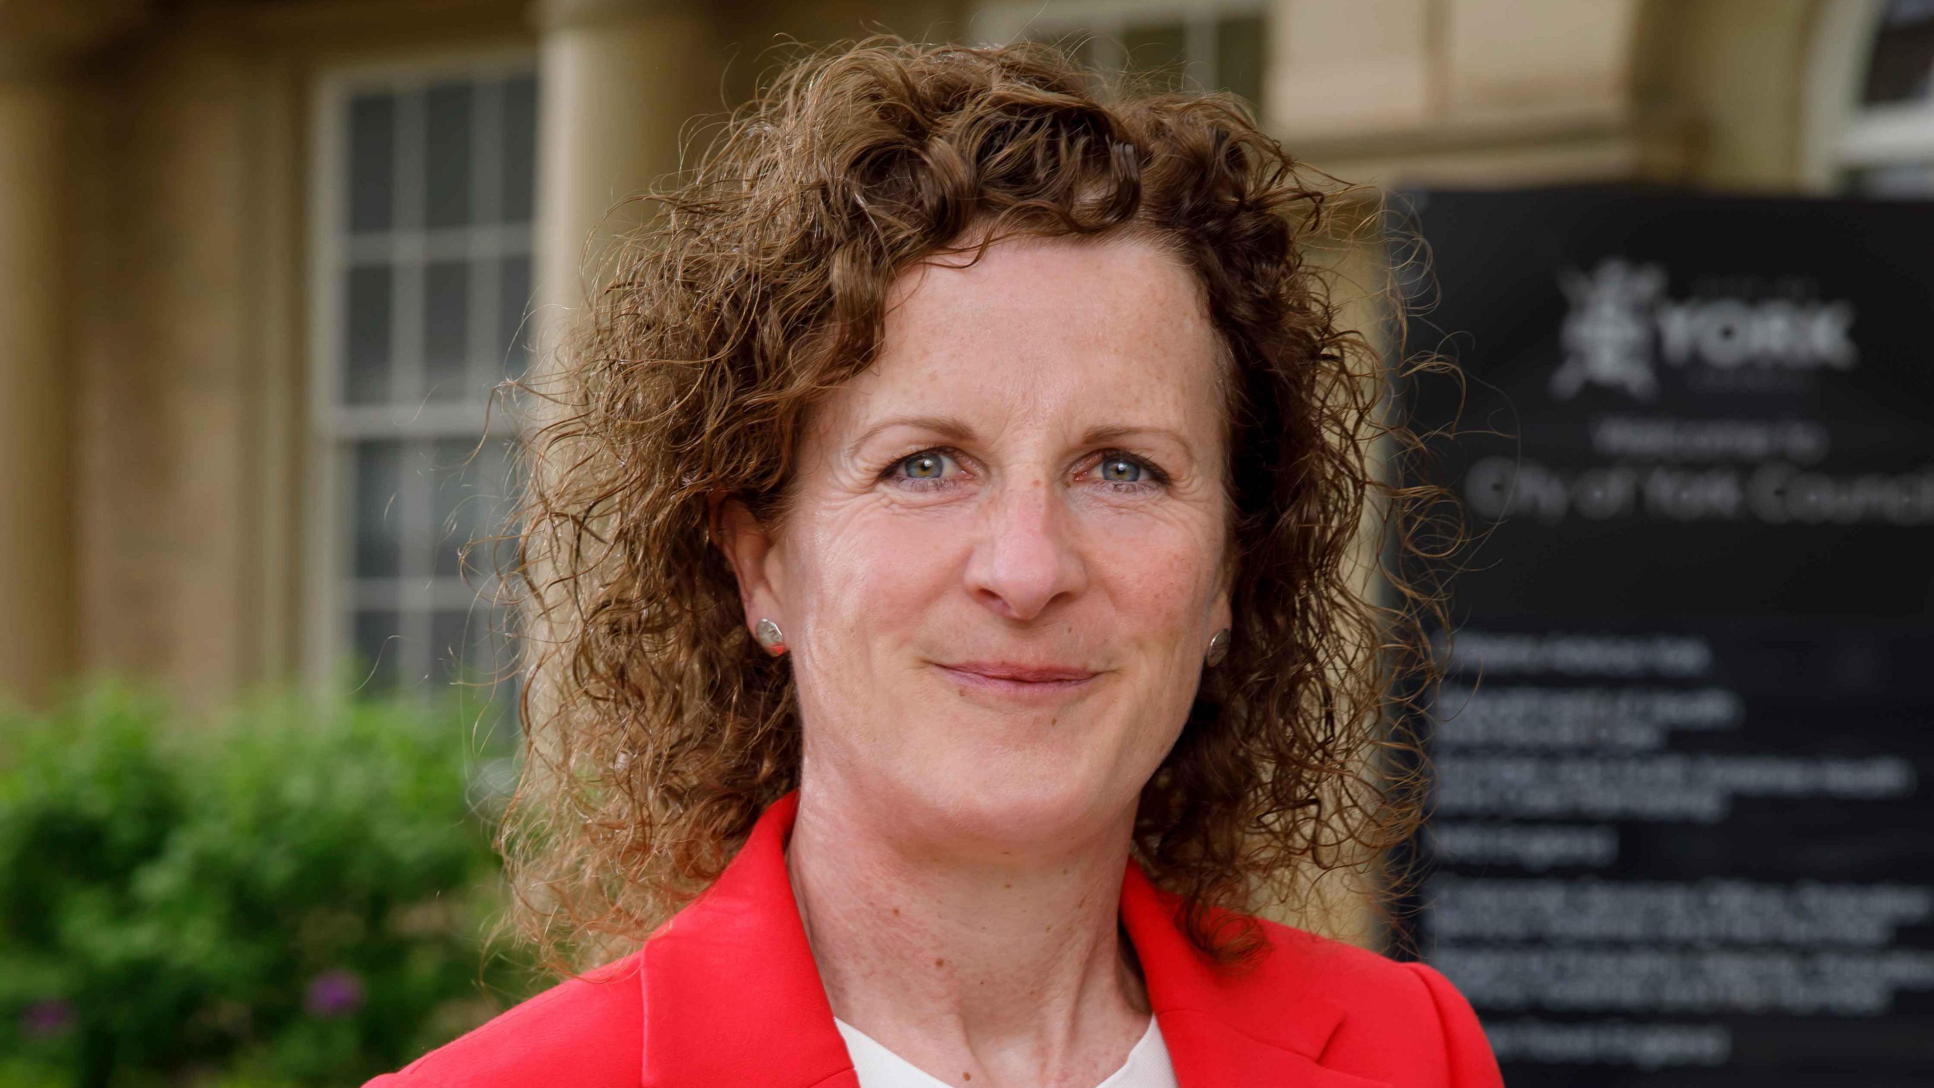
[[[1934,0],[1857,4],[1853,105],[1835,161],[1849,196],[1934,196]]]

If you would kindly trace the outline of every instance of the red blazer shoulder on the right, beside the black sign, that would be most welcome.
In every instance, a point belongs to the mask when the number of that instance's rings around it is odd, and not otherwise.
[[[1503,1084],[1478,1014],[1435,968],[1263,922],[1275,987],[1321,995],[1334,1030],[1321,1061],[1392,1084]]]

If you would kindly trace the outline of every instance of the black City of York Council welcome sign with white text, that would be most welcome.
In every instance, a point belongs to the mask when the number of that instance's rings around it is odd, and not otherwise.
[[[1512,1088],[1934,1084],[1934,205],[1414,209],[1487,530],[1421,954]]]

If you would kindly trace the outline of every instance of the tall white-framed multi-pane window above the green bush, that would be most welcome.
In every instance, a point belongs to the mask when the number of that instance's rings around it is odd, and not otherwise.
[[[311,674],[447,693],[499,672],[493,391],[528,364],[536,118],[528,56],[319,87]]]

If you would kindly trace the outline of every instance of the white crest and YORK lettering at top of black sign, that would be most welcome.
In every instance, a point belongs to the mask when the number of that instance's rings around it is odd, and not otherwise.
[[[1590,275],[1567,269],[1559,287],[1570,314],[1559,329],[1565,362],[1551,372],[1551,395],[1570,401],[1586,385],[1650,401],[1659,366],[1714,372],[1851,370],[1853,304],[1816,298],[1669,298],[1665,269],[1623,257]]]

